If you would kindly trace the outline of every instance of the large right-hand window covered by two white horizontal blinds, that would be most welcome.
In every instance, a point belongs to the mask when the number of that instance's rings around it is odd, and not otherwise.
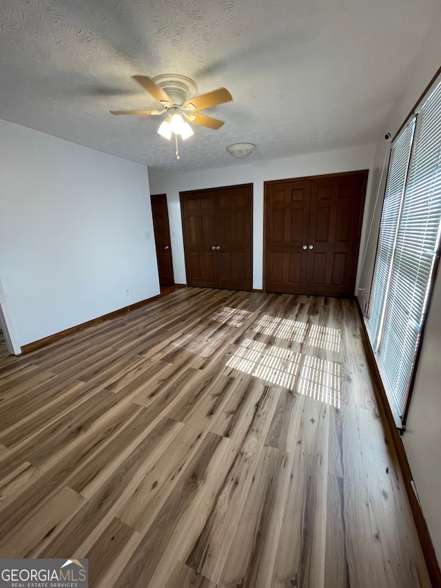
[[[441,83],[391,150],[369,327],[404,423],[440,247]]]

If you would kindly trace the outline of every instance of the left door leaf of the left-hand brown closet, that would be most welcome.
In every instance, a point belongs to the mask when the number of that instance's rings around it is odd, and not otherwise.
[[[189,286],[217,287],[216,201],[212,192],[181,194]]]

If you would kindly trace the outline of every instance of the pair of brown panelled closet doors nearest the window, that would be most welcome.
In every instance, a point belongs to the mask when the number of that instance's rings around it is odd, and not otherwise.
[[[353,296],[367,172],[269,182],[265,288]]]

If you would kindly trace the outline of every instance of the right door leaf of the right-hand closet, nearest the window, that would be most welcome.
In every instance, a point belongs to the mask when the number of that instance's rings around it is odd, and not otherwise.
[[[307,292],[353,296],[365,174],[330,176],[311,183]]]

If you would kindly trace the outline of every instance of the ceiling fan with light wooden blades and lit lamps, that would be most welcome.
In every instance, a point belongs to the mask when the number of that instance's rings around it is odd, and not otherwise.
[[[163,74],[153,79],[147,76],[132,76],[144,90],[161,103],[161,110],[111,110],[111,114],[153,114],[158,116],[167,113],[163,123],[158,128],[158,134],[171,139],[172,134],[176,138],[176,156],[178,135],[182,139],[188,139],[194,134],[189,123],[201,125],[217,130],[224,121],[199,114],[198,110],[205,110],[224,102],[232,100],[232,95],[225,88],[219,88],[213,92],[196,96],[198,87],[192,79],[177,74]],[[179,159],[179,157],[178,157]]]

